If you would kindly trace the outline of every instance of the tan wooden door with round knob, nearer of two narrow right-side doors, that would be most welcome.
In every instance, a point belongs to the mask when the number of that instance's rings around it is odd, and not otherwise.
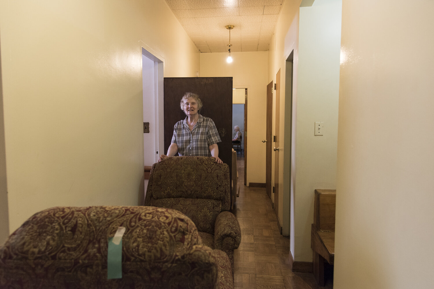
[[[274,211],[279,218],[279,128],[280,128],[280,69],[276,74],[276,125],[274,139]],[[279,225],[280,227],[280,225]]]

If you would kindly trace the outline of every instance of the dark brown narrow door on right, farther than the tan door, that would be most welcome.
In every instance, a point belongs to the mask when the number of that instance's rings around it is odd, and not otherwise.
[[[265,190],[271,198],[271,155],[273,153],[273,81],[267,85],[266,135],[265,140]]]

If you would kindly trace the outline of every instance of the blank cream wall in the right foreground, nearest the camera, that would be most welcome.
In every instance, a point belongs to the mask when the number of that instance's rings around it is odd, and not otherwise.
[[[343,1],[335,289],[433,288],[433,14]]]

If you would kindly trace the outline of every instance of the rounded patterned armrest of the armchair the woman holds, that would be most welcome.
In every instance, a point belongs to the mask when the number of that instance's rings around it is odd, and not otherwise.
[[[214,226],[214,248],[225,252],[240,246],[241,229],[237,218],[229,211],[218,214]]]

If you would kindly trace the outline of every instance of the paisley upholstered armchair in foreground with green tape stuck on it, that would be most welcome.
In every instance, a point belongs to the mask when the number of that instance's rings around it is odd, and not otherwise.
[[[122,278],[107,279],[108,239],[122,237]],[[0,247],[0,288],[233,289],[230,261],[201,244],[194,223],[156,207],[55,207]]]

